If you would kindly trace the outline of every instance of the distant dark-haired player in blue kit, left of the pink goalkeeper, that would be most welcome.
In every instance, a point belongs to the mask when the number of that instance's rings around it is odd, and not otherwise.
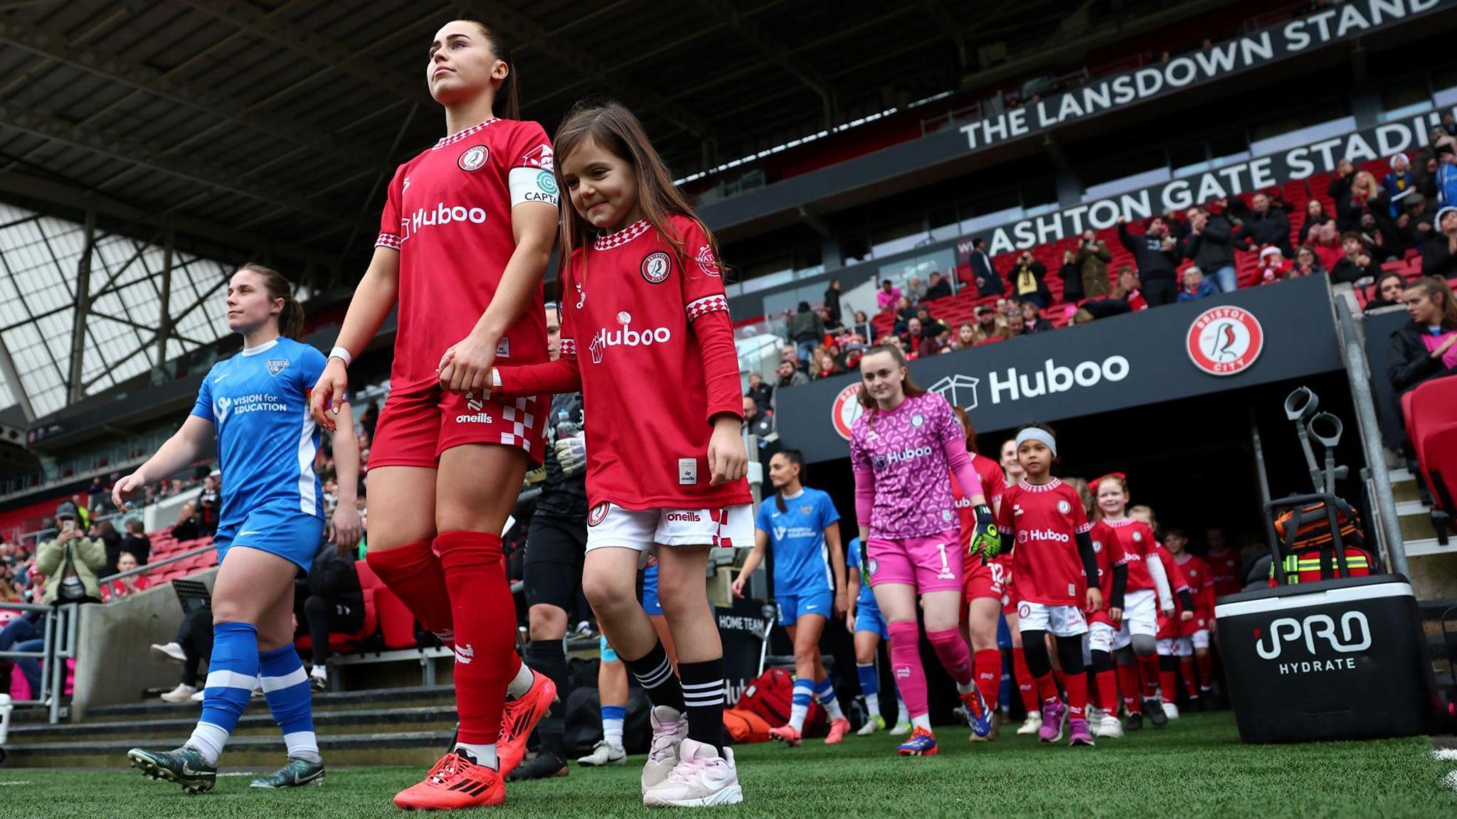
[[[797,449],[777,452],[769,459],[769,482],[778,494],[772,503],[759,504],[753,552],[733,583],[733,593],[742,597],[745,580],[759,567],[765,549],[774,549],[774,599],[779,605],[779,625],[794,643],[794,700],[790,723],[769,729],[769,736],[791,748],[800,745],[810,700],[817,700],[829,714],[826,743],[844,740],[849,730],[819,653],[825,624],[847,608],[839,513],[828,494],[806,488],[803,478],[804,456]]]

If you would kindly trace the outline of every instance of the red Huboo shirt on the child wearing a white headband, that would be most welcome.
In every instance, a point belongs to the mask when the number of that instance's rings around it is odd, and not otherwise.
[[[1002,493],[997,528],[1013,539],[1017,602],[1081,606],[1087,593],[1075,535],[1090,530],[1077,490],[1053,478],[1020,481]]]

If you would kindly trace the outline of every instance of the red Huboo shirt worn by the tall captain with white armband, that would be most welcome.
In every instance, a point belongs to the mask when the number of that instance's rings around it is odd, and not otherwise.
[[[475,328],[495,296],[516,252],[508,176],[517,168],[539,169],[541,191],[555,198],[552,149],[536,122],[487,119],[395,171],[374,242],[399,251],[393,389],[434,383],[440,356]],[[538,287],[501,337],[500,364],[548,358],[545,312]]]

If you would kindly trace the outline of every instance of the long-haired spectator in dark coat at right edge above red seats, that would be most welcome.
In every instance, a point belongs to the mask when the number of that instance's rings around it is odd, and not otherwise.
[[[1391,334],[1387,376],[1397,395],[1435,377],[1457,375],[1457,302],[1441,278],[1423,275],[1406,287],[1412,321]]]

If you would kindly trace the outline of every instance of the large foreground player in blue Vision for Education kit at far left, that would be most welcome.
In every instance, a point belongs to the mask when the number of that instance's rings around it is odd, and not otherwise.
[[[325,358],[294,341],[303,307],[288,281],[261,265],[246,264],[233,274],[227,326],[243,335],[243,350],[208,370],[182,428],[112,490],[117,507],[125,510],[128,497],[186,468],[217,436],[226,491],[213,538],[220,568],[203,716],[182,748],[127,752],[147,777],[178,783],[188,793],[213,790],[217,758],[259,678],[288,759],[252,787],[323,784],[309,676],[293,647],[293,581],[300,568],[309,570],[323,538],[323,488],[315,472],[319,430],[309,415],[309,389]],[[338,424],[332,443],[339,481],[335,541],[350,549],[360,536],[354,424]]]

